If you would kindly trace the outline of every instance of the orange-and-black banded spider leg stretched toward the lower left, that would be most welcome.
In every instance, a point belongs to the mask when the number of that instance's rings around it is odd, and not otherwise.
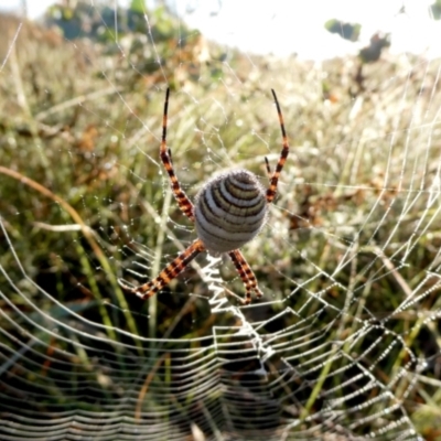
[[[131,288],[123,283],[120,279],[118,280],[119,286],[130,291],[142,300],[147,300],[150,297],[154,295],[158,291],[169,284],[174,278],[176,278],[183,269],[202,251],[205,250],[204,244],[196,239],[182,251],[172,262],[170,262],[159,275],[155,279],[141,284],[140,287]]]

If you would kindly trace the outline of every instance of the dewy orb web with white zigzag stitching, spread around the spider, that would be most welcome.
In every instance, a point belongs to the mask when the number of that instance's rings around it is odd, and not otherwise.
[[[36,45],[18,20],[2,52],[1,438],[429,435],[440,60],[390,53],[361,83],[349,55],[240,53],[150,12],[144,34],[115,36],[120,18],[109,25],[95,2],[88,13],[105,50],[50,31]],[[291,152],[268,225],[243,249],[263,292],[249,306],[234,267],[211,256],[148,303],[118,287],[194,239],[159,159],[171,83],[168,138],[193,201],[233,166],[268,185],[278,94]]]

